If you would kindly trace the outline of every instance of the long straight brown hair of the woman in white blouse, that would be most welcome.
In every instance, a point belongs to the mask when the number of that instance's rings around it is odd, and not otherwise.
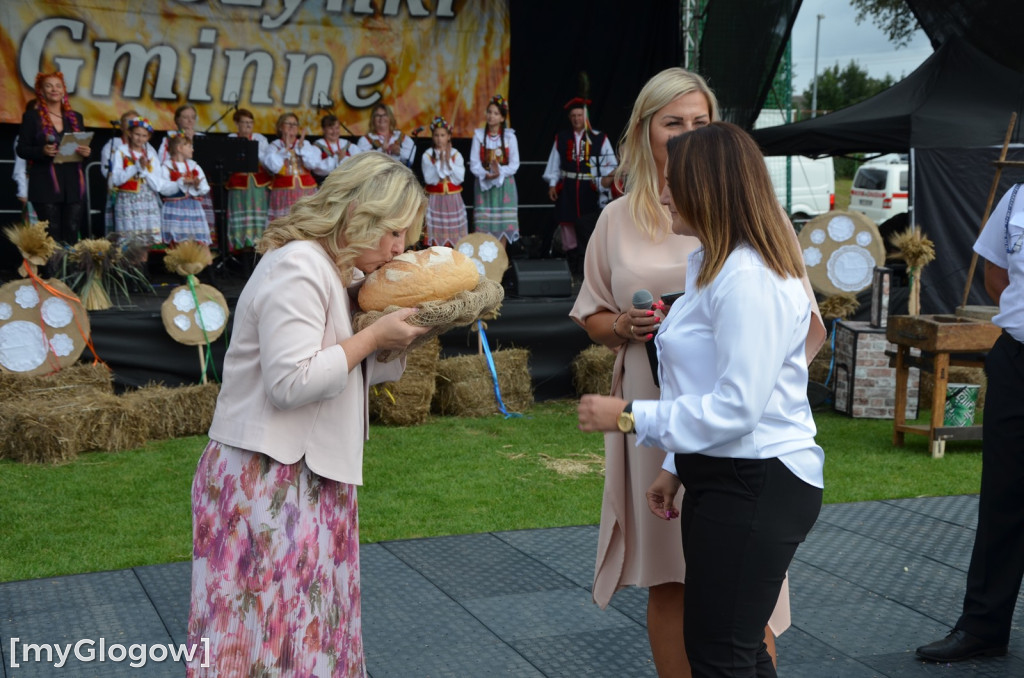
[[[672,202],[703,246],[697,288],[715,280],[741,245],[780,278],[804,274],[793,224],[778,208],[764,157],[750,134],[732,123],[714,122],[669,139],[668,163]]]

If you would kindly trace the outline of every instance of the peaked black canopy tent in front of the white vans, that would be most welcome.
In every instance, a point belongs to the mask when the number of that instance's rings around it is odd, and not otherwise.
[[[768,156],[909,153],[910,223],[922,227],[936,250],[936,261],[923,273],[922,309],[951,312],[963,299],[993,161],[1014,112],[1012,143],[1024,140],[1024,73],[952,35],[913,73],[869,99],[752,134]],[[1021,155],[1010,152],[1011,159]],[[1022,180],[1024,172],[1004,172],[996,198]],[[981,271],[979,266],[969,304],[991,303]]]

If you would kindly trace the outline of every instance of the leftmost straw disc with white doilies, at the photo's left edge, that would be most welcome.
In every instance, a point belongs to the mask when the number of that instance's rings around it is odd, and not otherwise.
[[[85,350],[90,329],[82,302],[58,280],[45,285],[29,279],[0,287],[3,372],[47,375],[71,367]]]

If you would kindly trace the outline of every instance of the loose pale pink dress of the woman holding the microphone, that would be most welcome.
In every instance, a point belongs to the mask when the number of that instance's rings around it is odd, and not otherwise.
[[[653,241],[634,223],[626,198],[609,203],[587,248],[584,282],[569,315],[583,326],[595,312],[628,310],[637,290],[648,290],[655,299],[682,291],[686,257],[698,246],[695,238],[671,232]],[[611,394],[626,400],[658,398],[642,343],[630,342],[618,350]],[[679,521],[656,518],[647,508],[647,488],[658,474],[665,453],[637,447],[636,436],[616,432],[605,433],[604,454],[593,587],[594,601],[602,608],[618,589],[682,583],[686,576]],[[775,635],[790,627],[788,580],[782,583],[769,626]]]

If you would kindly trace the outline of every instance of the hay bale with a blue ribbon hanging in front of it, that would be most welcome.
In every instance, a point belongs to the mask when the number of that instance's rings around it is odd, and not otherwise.
[[[534,405],[529,378],[529,351],[508,348],[492,352],[502,401],[509,412],[523,412]],[[482,354],[449,357],[437,364],[437,391],[433,409],[455,417],[486,417],[497,414],[495,385]]]

